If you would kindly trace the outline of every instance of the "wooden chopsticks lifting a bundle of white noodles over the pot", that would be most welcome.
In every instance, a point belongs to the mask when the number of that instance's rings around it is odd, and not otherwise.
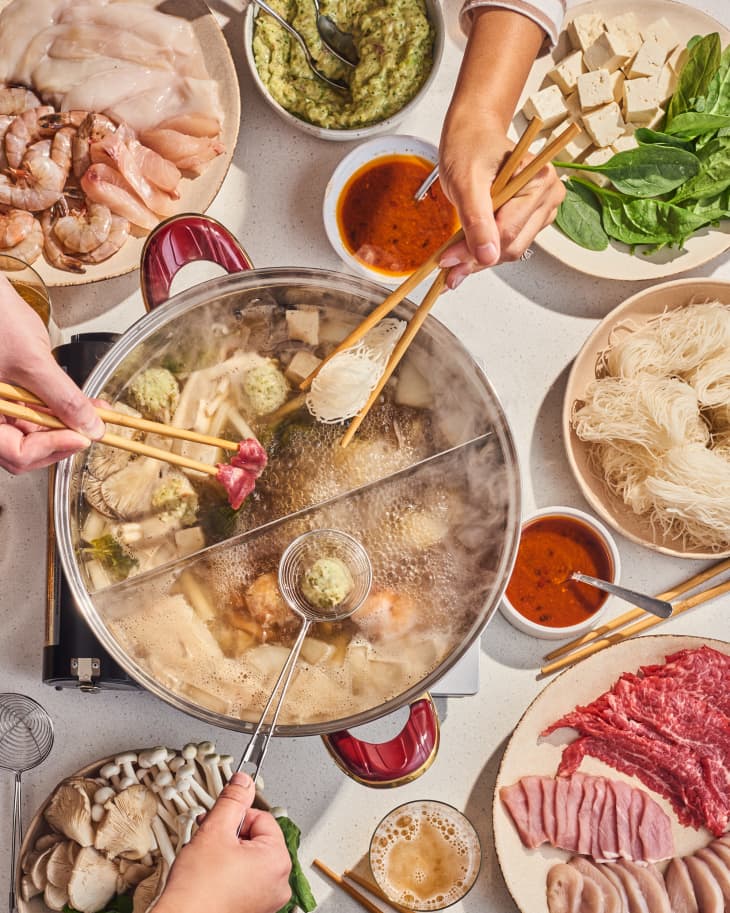
[[[543,123],[539,118],[534,118],[530,121],[527,129],[523,133],[519,142],[512,150],[512,152],[507,157],[504,165],[499,171],[499,174],[495,178],[494,184],[492,185],[492,206],[495,210],[499,209],[500,206],[503,206],[508,200],[512,199],[522,188],[527,184],[532,178],[542,169],[545,165],[550,162],[559,152],[561,152],[568,143],[577,136],[581,131],[580,127],[577,124],[570,124],[563,132],[557,136],[552,143],[549,143],[542,149],[537,156],[528,164],[525,168],[522,169],[517,175],[515,171],[520,165],[525,153],[527,152],[530,143],[535,139],[537,134],[542,129]],[[514,176],[513,176],[514,175]],[[458,241],[463,241],[464,239],[464,229],[460,228],[455,234],[453,234],[448,241],[441,245],[438,250],[434,251],[433,254],[421,265],[419,268],[412,273],[404,282],[402,282],[394,292],[392,292],[388,297],[383,301],[382,304],[378,305],[372,313],[370,313],[365,320],[362,321],[359,326],[357,326],[349,336],[342,340],[342,342],[335,348],[333,351],[325,358],[317,368],[312,371],[312,373],[306,377],[302,383],[299,385],[301,390],[308,390],[311,386],[312,381],[317,376],[317,374],[322,370],[324,365],[327,362],[334,358],[335,355],[338,355],[344,349],[348,349],[350,346],[355,345],[359,342],[366,333],[368,333],[372,328],[386,317],[397,305],[403,301],[403,299],[409,295],[413,289],[416,288],[424,279],[426,279],[430,273],[433,272],[438,267],[439,260],[441,259],[442,254],[446,251],[452,244],[456,244]],[[405,332],[398,340],[393,352],[388,360],[388,364],[385,367],[380,381],[377,386],[370,394],[368,401],[365,403],[363,408],[358,412],[358,414],[353,418],[352,422],[345,432],[344,437],[342,438],[342,446],[347,447],[352,438],[354,437],[357,429],[362,424],[363,419],[368,414],[373,404],[376,402],[380,396],[383,387],[386,385],[393,371],[398,366],[398,363],[403,358],[408,346],[413,341],[413,337],[416,335],[418,330],[421,327],[421,324],[426,319],[428,312],[431,310],[433,305],[436,303],[437,298],[443,291],[445,282],[446,282],[446,273],[448,270],[441,269],[439,270],[436,280],[434,281],[431,288],[426,293],[421,304],[416,309],[413,317],[408,323]]]

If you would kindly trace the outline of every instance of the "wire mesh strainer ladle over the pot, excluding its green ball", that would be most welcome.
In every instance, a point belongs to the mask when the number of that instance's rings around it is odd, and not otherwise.
[[[304,575],[319,558],[339,559],[352,578],[352,588],[344,600],[329,608],[313,605],[302,592]],[[299,651],[310,626],[319,621],[343,621],[345,618],[349,618],[367,599],[372,579],[373,569],[368,553],[357,539],[340,530],[314,529],[303,533],[289,544],[279,562],[279,589],[289,608],[299,615],[304,623],[279,673],[237,770],[242,770],[244,765],[249,765],[246,772],[250,773],[254,780],[256,779],[256,775],[264,763],[269,741],[276,728],[279,711],[284,702],[284,695],[289,687],[294,667],[299,658]],[[279,699],[274,704],[277,694]],[[272,704],[274,712],[271,722],[266,726],[266,717]]]

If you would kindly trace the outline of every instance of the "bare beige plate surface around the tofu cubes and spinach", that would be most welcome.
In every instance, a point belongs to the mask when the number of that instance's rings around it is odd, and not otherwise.
[[[636,0],[596,0],[593,3],[570,7],[566,21],[569,22],[584,13],[600,13],[604,18],[610,18],[630,11],[635,12],[639,22],[644,25],[664,16],[684,41],[689,40],[692,35],[719,32],[723,47],[730,42],[730,31],[715,19],[700,10],[685,6],[683,3],[675,3],[673,0],[642,0],[641,3],[636,3]],[[569,49],[568,36],[563,32],[552,54],[541,57],[532,68],[525,91],[517,105],[518,110],[521,110],[528,95],[552,84],[547,79],[547,73],[555,66],[555,61],[564,57]],[[515,119],[515,128],[519,133],[525,128],[525,119],[521,114]],[[606,250],[585,250],[552,225],[540,232],[537,243],[561,263],[590,276],[632,281],[661,279],[694,269],[727,250],[730,247],[730,222],[723,222],[720,228],[702,229],[687,241],[686,248],[681,251],[671,248],[651,256],[645,256],[641,252],[631,254],[628,246],[618,241],[611,241]]]

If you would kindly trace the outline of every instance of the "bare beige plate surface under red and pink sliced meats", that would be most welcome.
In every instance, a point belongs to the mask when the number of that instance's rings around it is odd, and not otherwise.
[[[522,913],[547,913],[545,880],[548,870],[557,862],[565,862],[570,853],[546,848],[535,850],[522,845],[512,819],[504,809],[499,790],[529,774],[553,776],[572,730],[560,729],[548,739],[540,739],[540,732],[577,704],[587,704],[608,690],[623,672],[634,672],[639,666],[659,663],[665,656],[686,648],[694,649],[707,644],[722,653],[730,654],[730,644],[720,640],[700,637],[664,635],[634,637],[594,656],[584,659],[561,673],[543,689],[525,711],[512,733],[497,775],[494,790],[494,845],[507,888]],[[567,736],[567,738],[566,738]],[[636,779],[618,773],[611,767],[586,757],[581,765],[584,773],[621,779],[632,786],[646,789]],[[712,839],[707,830],[695,831],[683,827],[676,819],[670,804],[661,796],[651,793],[672,821],[674,843],[678,855],[695,852]]]

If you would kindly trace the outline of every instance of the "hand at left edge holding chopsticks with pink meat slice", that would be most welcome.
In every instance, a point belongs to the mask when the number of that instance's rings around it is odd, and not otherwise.
[[[51,354],[43,321],[0,275],[0,380],[40,396],[54,415],[76,431],[49,431],[0,415],[0,466],[12,473],[40,469],[89,446],[104,424]]]

